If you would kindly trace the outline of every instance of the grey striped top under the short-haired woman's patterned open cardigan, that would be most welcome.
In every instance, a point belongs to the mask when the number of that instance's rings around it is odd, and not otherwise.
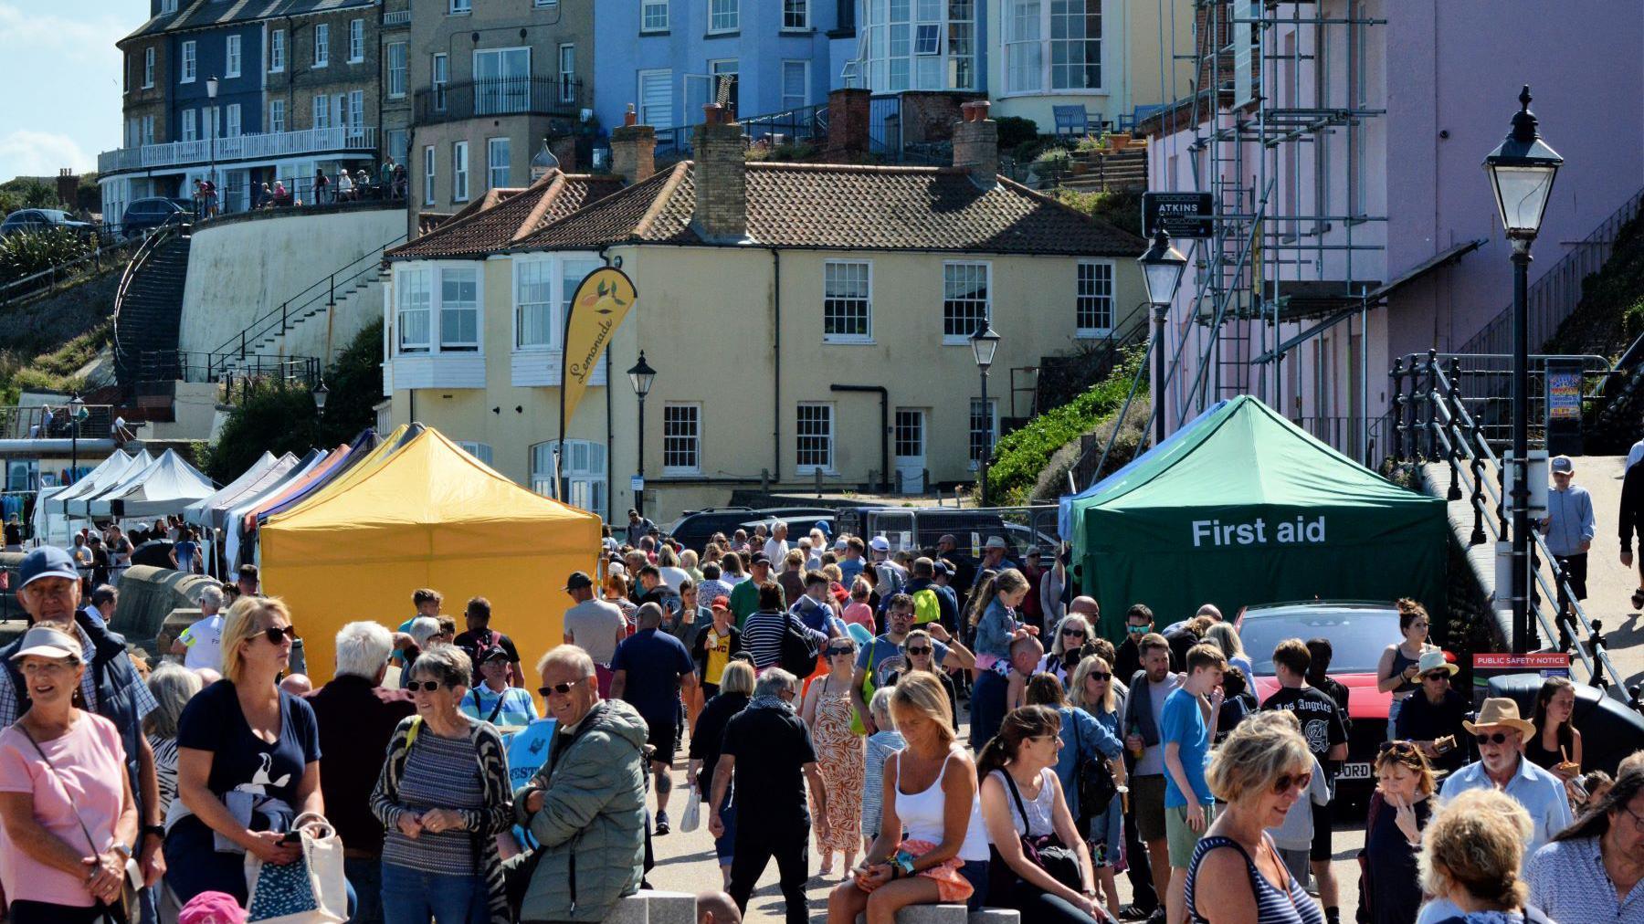
[[[473,740],[469,735],[441,738],[424,727],[406,756],[399,804],[413,812],[483,809],[485,784]],[[473,870],[473,835],[467,830],[424,830],[409,839],[393,825],[383,839],[383,863],[444,875]]]

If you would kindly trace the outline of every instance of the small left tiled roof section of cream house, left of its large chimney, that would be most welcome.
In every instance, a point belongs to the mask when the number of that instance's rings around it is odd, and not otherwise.
[[[621,189],[621,178],[552,171],[529,189],[490,189],[429,233],[385,260],[483,260],[589,202]]]

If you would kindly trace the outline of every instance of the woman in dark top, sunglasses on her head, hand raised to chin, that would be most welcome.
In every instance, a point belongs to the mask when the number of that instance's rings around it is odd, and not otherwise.
[[[1365,896],[1371,924],[1414,924],[1422,904],[1415,855],[1432,817],[1432,765],[1415,742],[1386,742],[1365,824]]]

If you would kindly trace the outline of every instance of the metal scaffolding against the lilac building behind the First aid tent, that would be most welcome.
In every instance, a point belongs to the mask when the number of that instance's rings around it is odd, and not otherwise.
[[[1363,330],[1386,266],[1386,215],[1371,214],[1365,189],[1366,123],[1386,115],[1369,105],[1368,35],[1386,20],[1368,7],[1194,0],[1195,48],[1172,48],[1195,64],[1190,105],[1180,100],[1161,118],[1187,115],[1192,189],[1212,194],[1213,235],[1189,253],[1195,291],[1167,367],[1174,426],[1233,395],[1305,418],[1304,390],[1286,388],[1284,360],[1343,321],[1351,349],[1356,322],[1358,381],[1348,395],[1356,419],[1333,429],[1348,431],[1338,449],[1368,455]]]

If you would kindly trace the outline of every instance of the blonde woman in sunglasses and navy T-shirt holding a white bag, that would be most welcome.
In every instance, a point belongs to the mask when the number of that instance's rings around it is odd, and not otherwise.
[[[178,797],[166,815],[166,885],[179,904],[202,891],[247,901],[245,853],[301,857],[284,832],[326,812],[314,710],[279,689],[291,663],[291,612],[278,597],[242,597],[222,626],[222,679],[178,718]]]

